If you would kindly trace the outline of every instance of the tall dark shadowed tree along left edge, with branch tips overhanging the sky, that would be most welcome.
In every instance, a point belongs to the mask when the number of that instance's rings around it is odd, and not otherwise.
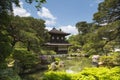
[[[25,1],[28,3],[36,2],[36,8],[40,8],[41,4],[46,2],[46,0]],[[0,0],[0,66],[2,62],[4,63],[6,57],[10,55],[14,45],[14,43],[11,45],[13,38],[9,35],[11,33],[8,32],[8,29],[11,27],[11,20],[13,19],[13,3],[19,6],[19,0]]]

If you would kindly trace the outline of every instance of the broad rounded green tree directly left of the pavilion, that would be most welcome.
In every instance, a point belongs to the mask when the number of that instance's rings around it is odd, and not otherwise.
[[[49,38],[44,21],[33,17],[12,17],[7,31],[12,38],[13,47],[17,42],[21,42],[28,51],[36,53],[40,52],[41,45]]]

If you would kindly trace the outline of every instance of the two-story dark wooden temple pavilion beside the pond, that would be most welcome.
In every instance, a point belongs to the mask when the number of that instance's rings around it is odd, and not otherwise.
[[[50,40],[45,43],[45,46],[54,50],[57,54],[66,54],[68,52],[68,47],[71,45],[66,41],[66,36],[70,35],[70,33],[65,33],[61,29],[57,30],[53,28],[49,31]]]

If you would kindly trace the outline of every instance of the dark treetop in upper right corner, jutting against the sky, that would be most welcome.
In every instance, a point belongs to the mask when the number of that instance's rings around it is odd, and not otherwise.
[[[96,22],[110,23],[120,20],[120,0],[104,0],[99,4],[98,12],[94,14],[93,20]]]

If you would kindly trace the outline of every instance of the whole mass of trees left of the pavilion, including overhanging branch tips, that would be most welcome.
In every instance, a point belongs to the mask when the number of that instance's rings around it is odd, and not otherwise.
[[[46,0],[25,0],[27,3],[36,2],[40,9]],[[38,64],[38,54],[42,42],[48,39],[44,21],[32,17],[13,15],[13,6],[19,6],[19,0],[0,0],[0,80],[21,80],[19,73]],[[47,39],[45,39],[47,38]],[[19,54],[20,53],[20,54]],[[9,63],[13,62],[9,75]],[[22,70],[22,71],[21,71]],[[7,72],[1,75],[1,71]]]

